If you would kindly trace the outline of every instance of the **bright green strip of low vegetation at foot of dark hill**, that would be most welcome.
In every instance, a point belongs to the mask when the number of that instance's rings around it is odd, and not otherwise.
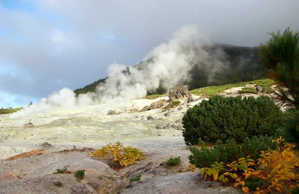
[[[237,88],[237,87],[245,87],[245,85],[248,84],[254,84],[257,86],[263,87],[263,89],[267,90],[270,89],[271,86],[275,85],[276,82],[271,80],[271,79],[262,79],[262,80],[255,80],[255,81],[250,81],[250,82],[241,82],[241,83],[236,83],[236,84],[227,84],[223,86],[209,86],[205,88],[199,88],[190,91],[192,95],[212,95],[212,94],[220,94],[223,93],[225,90],[230,89],[230,88]]]

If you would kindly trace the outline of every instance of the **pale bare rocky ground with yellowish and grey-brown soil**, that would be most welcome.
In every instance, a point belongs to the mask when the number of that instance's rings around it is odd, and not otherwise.
[[[182,99],[179,106],[167,111],[157,108],[130,113],[156,100],[133,100],[115,107],[116,115],[95,112],[94,107],[19,118],[0,115],[0,194],[242,194],[239,189],[206,181],[198,169],[187,171],[190,152],[182,138],[180,119],[202,99],[190,103]],[[153,119],[148,120],[149,116]],[[28,122],[34,127],[24,128]],[[87,156],[91,151],[87,148],[118,140],[140,148],[147,158],[115,171]],[[45,142],[51,145],[45,146]],[[43,148],[47,153],[5,160]],[[178,156],[182,160],[178,166],[166,168],[162,164]],[[67,173],[54,174],[62,168],[67,168]],[[85,178],[77,181],[74,173],[82,169],[86,170]],[[139,174],[140,181],[129,182]],[[57,182],[62,187],[56,186]]]

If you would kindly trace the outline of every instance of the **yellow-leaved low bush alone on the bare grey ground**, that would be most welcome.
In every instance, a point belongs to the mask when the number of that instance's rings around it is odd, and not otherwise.
[[[89,152],[88,155],[92,158],[103,159],[108,162],[108,165],[115,169],[123,166],[128,166],[136,163],[137,160],[145,159],[144,153],[137,148],[124,147],[119,141],[115,145],[111,143],[97,149],[94,152]]]

